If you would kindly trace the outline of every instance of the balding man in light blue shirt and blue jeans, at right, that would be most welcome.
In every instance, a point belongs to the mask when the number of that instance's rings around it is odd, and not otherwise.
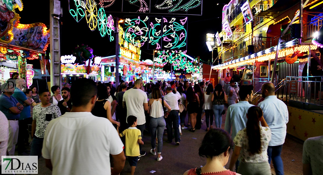
[[[276,175],[284,174],[283,160],[280,153],[286,137],[286,124],[288,123],[288,109],[284,102],[275,96],[275,86],[273,83],[265,83],[261,87],[264,101],[258,106],[264,112],[264,118],[271,129],[271,141],[268,146],[269,163],[273,159]]]

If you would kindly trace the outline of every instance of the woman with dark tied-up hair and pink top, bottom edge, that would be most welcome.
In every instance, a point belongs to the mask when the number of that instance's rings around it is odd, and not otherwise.
[[[206,164],[201,168],[187,170],[183,175],[241,175],[227,170],[230,149],[233,142],[230,135],[221,128],[211,128],[204,136],[199,155],[206,157]]]

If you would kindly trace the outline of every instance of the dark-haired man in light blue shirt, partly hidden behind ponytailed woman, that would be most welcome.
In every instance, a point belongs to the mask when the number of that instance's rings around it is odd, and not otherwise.
[[[224,129],[230,134],[231,125],[232,125],[232,139],[234,139],[235,135],[238,131],[244,129],[247,123],[247,112],[253,104],[249,104],[252,102],[254,86],[252,85],[243,85],[240,87],[239,96],[240,101],[237,104],[232,104],[228,107],[228,111],[226,113],[225,125]],[[238,170],[239,160],[235,163],[235,169]]]

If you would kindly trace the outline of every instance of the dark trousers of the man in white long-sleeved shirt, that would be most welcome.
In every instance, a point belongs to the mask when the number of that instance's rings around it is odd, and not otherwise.
[[[166,118],[166,126],[167,126],[167,138],[168,141],[172,142],[173,140],[173,129],[174,128],[174,134],[175,134],[175,142],[180,142],[180,130],[179,130],[179,124],[178,124],[179,116],[178,111],[172,110],[168,117]]]

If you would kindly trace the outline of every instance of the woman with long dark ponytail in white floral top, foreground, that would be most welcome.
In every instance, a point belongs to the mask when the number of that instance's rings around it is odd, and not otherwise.
[[[268,127],[260,107],[252,106],[247,113],[246,128],[234,138],[234,151],[229,169],[233,170],[239,158],[238,173],[250,175],[271,175],[268,163],[267,148],[271,140],[271,129]],[[261,126],[259,126],[259,121]]]

